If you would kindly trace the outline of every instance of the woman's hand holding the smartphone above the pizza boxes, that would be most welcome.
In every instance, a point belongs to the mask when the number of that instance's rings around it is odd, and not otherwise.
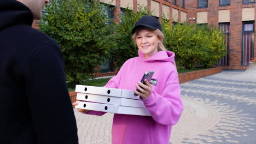
[[[136,85],[136,88],[141,92],[133,90],[133,92],[135,94],[140,95],[142,99],[148,98],[148,96],[151,94],[151,91],[152,91],[150,83],[146,79],[144,80],[144,82],[146,85],[143,85],[142,82],[138,82],[138,85]]]

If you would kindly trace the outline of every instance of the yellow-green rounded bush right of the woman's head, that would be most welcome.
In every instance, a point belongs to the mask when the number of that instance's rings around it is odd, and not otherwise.
[[[166,49],[176,54],[178,66],[191,70],[200,63],[207,67],[225,55],[224,35],[213,26],[164,21],[162,27]]]

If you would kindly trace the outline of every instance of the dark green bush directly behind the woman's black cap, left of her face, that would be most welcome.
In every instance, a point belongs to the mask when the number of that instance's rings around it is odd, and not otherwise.
[[[110,44],[109,56],[114,62],[117,62],[117,69],[120,69],[127,59],[138,56],[138,49],[132,40],[131,33],[135,23],[144,15],[151,15],[146,7],[139,6],[138,13],[133,10],[124,9],[123,14],[120,15],[120,23],[115,23],[115,32],[112,37],[115,43]]]

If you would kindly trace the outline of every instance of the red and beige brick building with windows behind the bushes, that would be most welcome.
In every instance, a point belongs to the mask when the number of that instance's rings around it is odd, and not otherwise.
[[[122,9],[137,11],[144,5],[161,21],[162,16],[172,22],[213,23],[226,35],[227,55],[220,59],[224,69],[246,69],[256,58],[255,0],[100,0],[113,5],[110,14],[115,21]],[[36,22],[35,22],[36,23]],[[102,65],[107,68],[108,64]]]

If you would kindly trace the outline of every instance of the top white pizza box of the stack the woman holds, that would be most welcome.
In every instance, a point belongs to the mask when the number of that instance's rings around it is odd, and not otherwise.
[[[129,99],[138,99],[139,100],[139,96],[134,96],[133,91],[129,91],[126,89],[120,89],[120,88],[107,88],[107,87],[76,85],[75,92],[97,94],[97,95],[107,95],[107,96],[112,96],[112,97],[121,97],[121,98],[129,98]]]

